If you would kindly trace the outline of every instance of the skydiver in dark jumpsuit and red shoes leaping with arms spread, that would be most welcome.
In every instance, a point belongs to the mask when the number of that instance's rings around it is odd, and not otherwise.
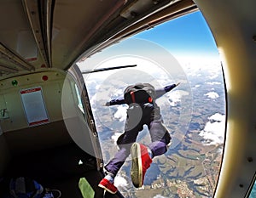
[[[170,92],[179,84],[154,89],[149,83],[137,83],[125,88],[123,98],[112,99],[106,103],[106,106],[127,104],[129,107],[126,114],[125,132],[117,140],[119,150],[104,167],[106,176],[98,184],[99,187],[112,194],[117,192],[113,180],[130,153],[132,184],[137,188],[143,186],[144,175],[150,167],[152,159],[154,156],[166,153],[167,145],[170,144],[172,139],[163,123],[160,107],[155,103],[155,100]],[[143,90],[146,90],[146,92]],[[143,130],[144,124],[148,126],[152,140],[152,143],[148,146],[136,142],[137,135]]]

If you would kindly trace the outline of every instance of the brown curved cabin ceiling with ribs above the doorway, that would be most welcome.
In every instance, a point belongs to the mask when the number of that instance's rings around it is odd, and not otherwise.
[[[67,70],[82,54],[195,9],[191,0],[2,1],[0,74]]]

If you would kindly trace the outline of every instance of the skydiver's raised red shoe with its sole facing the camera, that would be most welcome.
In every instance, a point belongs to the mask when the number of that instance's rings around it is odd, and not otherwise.
[[[136,188],[143,186],[145,173],[151,163],[152,159],[145,145],[138,143],[131,145],[131,181]]]

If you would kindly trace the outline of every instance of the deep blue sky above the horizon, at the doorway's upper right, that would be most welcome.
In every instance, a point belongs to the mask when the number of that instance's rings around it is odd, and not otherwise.
[[[157,42],[174,55],[218,56],[214,38],[200,11],[156,25],[134,37]]]

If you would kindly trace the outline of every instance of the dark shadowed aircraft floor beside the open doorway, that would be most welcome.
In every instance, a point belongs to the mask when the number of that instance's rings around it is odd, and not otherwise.
[[[94,198],[123,197],[110,195],[97,185],[103,173],[96,169],[96,158],[78,146],[68,144],[14,156],[4,178],[29,177],[49,189],[61,190],[61,198],[84,198],[79,190],[79,179],[85,178],[94,190]]]

